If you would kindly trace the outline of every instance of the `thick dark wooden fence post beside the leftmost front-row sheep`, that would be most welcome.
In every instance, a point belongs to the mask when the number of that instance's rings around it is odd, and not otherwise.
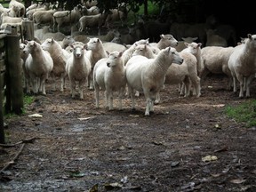
[[[6,36],[7,85],[11,98],[12,112],[21,114],[23,108],[22,68],[20,60],[20,36]]]

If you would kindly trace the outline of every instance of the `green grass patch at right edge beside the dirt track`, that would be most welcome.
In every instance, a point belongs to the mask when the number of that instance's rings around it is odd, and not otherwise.
[[[238,123],[245,123],[247,127],[256,126],[256,100],[248,100],[232,107],[227,106],[225,113]]]

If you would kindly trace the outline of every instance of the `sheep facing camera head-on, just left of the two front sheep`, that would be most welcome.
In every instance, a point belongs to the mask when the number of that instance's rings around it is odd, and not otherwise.
[[[80,100],[84,100],[83,86],[88,81],[88,76],[92,70],[91,61],[85,57],[85,44],[70,44],[70,46],[73,48],[73,53],[66,62],[66,71],[70,82],[71,95],[72,98],[75,98],[76,82],[78,82]]]

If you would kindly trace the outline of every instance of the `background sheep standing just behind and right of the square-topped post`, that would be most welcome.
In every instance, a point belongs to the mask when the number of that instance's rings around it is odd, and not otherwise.
[[[52,9],[36,11],[33,14],[33,20],[37,24],[37,26],[40,26],[41,24],[50,24],[50,27],[52,27],[54,12],[56,12],[56,10],[52,10]]]

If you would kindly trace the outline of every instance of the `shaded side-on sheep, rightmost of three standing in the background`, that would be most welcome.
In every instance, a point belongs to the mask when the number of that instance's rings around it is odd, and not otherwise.
[[[86,28],[98,28],[98,35],[100,36],[100,27],[106,19],[105,13],[99,13],[96,15],[84,15],[79,19],[79,31],[82,32]]]

